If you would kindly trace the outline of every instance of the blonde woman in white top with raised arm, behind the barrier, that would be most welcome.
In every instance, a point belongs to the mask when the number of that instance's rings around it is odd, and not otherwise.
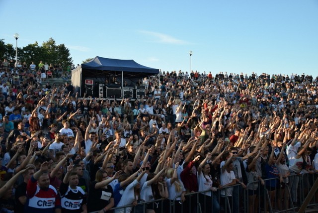
[[[185,188],[182,182],[178,179],[177,176],[177,169],[179,167],[179,163],[175,164],[174,169],[169,169],[167,172],[167,186],[168,186],[168,193],[169,193],[169,200],[170,202],[174,202],[174,212],[182,212],[182,204],[185,201]],[[176,198],[177,197],[177,198]]]

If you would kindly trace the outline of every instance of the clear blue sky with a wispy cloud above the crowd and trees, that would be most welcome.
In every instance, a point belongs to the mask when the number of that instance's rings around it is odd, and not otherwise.
[[[50,37],[74,64],[133,59],[162,71],[318,76],[318,0],[0,0],[0,38]]]

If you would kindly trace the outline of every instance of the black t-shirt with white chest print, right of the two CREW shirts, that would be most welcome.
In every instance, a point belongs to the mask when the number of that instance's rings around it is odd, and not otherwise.
[[[93,181],[89,186],[87,212],[100,211],[109,204],[111,198],[114,199],[113,189],[110,185],[107,186],[107,189],[95,189],[96,183],[96,181]]]

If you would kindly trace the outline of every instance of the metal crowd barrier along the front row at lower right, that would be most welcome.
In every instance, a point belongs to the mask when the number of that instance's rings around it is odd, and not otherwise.
[[[126,213],[130,212],[128,208],[132,208],[131,213],[144,213],[150,206],[155,207],[156,213],[291,213],[298,211],[317,177],[318,174],[310,173],[290,175],[288,184],[284,184],[284,181],[280,183],[279,178],[271,178],[264,180],[264,186],[260,181],[254,181],[248,183],[246,189],[243,189],[240,184],[222,189],[232,191],[232,197],[222,196],[222,190],[204,191],[186,194],[186,200],[183,203],[179,201],[180,196],[178,196],[173,200],[140,201],[136,207],[127,205],[112,210],[114,213]],[[291,183],[291,180],[295,181],[295,178],[298,181]],[[257,184],[257,190],[249,191],[248,188],[254,184]],[[294,192],[297,192],[294,195],[291,193],[293,187],[296,187]],[[205,192],[211,192],[212,196],[206,196]],[[293,199],[296,202],[293,202]],[[318,205],[318,193],[308,208],[313,208],[315,205]]]

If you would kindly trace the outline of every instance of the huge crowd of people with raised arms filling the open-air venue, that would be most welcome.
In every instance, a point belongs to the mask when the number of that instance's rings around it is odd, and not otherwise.
[[[318,171],[312,76],[163,72],[109,101],[0,69],[2,212],[240,212],[247,192],[253,213],[262,189],[288,209]]]

